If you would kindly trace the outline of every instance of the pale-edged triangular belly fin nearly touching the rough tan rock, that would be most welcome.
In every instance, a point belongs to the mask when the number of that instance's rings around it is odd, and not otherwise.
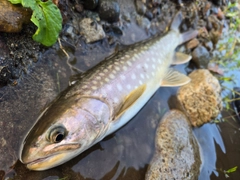
[[[161,86],[182,86],[189,83],[191,79],[178,71],[169,69],[165,75]]]

